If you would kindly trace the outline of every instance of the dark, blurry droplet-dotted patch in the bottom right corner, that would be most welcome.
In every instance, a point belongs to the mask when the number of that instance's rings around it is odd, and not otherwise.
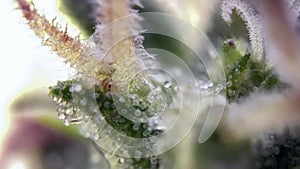
[[[297,168],[300,156],[299,126],[266,133],[255,141],[252,149],[257,168]]]

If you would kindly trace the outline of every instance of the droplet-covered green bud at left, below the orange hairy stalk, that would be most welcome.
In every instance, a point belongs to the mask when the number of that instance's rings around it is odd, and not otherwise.
[[[129,112],[126,107],[118,111],[110,89],[89,84],[84,83],[83,79],[75,79],[58,82],[56,86],[50,87],[49,95],[57,105],[59,119],[63,120],[65,125],[80,123],[84,134],[88,137],[95,141],[107,142],[112,149],[123,151],[124,154],[135,149],[126,145],[124,136],[145,138],[136,147],[145,147],[150,151],[155,146],[150,136],[159,135],[163,130],[156,129],[157,125],[154,125],[152,121],[137,123],[125,118],[122,113],[140,115],[144,112],[143,110]],[[118,100],[122,101],[123,98],[120,97]],[[142,149],[135,149],[132,153],[140,158],[120,157],[116,160],[117,163],[122,164],[120,168],[126,168],[126,166],[158,168],[158,159],[142,158],[144,155]]]

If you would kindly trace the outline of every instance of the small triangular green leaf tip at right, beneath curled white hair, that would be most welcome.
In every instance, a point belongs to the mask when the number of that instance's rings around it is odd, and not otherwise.
[[[224,43],[223,52],[227,67],[224,88],[229,102],[236,102],[252,92],[288,87],[266,63],[253,59],[249,53],[238,52],[232,40]]]

